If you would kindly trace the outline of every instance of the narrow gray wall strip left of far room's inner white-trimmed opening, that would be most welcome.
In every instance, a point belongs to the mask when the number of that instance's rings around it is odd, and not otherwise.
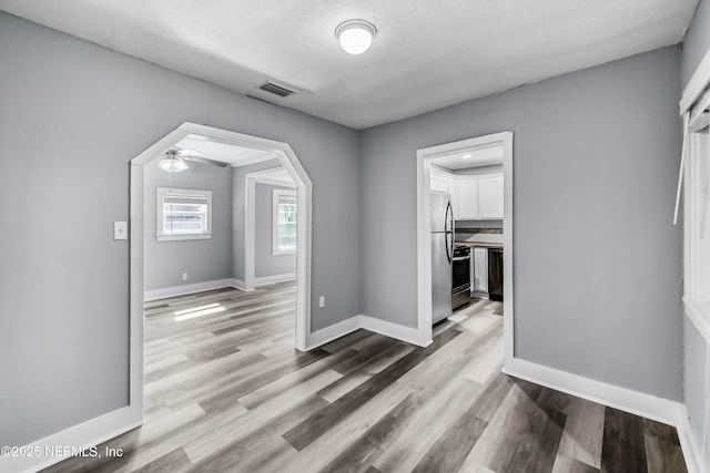
[[[232,277],[244,281],[244,224],[246,219],[246,174],[281,166],[278,160],[264,161],[232,169]]]

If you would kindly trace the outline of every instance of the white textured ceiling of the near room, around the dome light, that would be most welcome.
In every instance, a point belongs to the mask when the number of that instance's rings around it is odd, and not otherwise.
[[[0,0],[0,9],[356,128],[682,40],[698,0]],[[335,28],[361,18],[366,53]],[[280,99],[267,80],[294,88]]]

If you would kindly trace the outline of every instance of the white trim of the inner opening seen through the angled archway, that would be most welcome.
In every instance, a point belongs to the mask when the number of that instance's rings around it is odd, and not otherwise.
[[[256,277],[254,276],[255,266],[256,266],[256,184],[268,184],[274,186],[282,187],[293,187],[283,181],[271,179],[268,177],[264,177],[264,175],[268,175],[273,172],[273,168],[267,168],[263,171],[254,171],[253,173],[247,173],[246,177],[246,186],[244,189],[245,198],[244,198],[244,288],[245,290],[254,290],[256,286]],[[295,181],[294,181],[295,182]],[[294,187],[296,188],[296,187]],[[298,192],[296,191],[296,198]],[[300,203],[300,202],[298,202]],[[300,214],[300,212],[297,213]],[[296,220],[298,219],[298,215],[296,215]],[[296,229],[296,233],[298,230]],[[301,235],[297,235],[301,238]],[[300,251],[300,247],[296,243],[296,254]],[[296,255],[296,259],[298,256]],[[297,278],[296,278],[297,280]]]

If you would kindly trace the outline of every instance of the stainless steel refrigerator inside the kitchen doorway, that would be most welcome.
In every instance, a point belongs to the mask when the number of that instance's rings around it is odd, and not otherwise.
[[[432,323],[452,315],[454,210],[452,196],[432,192]]]

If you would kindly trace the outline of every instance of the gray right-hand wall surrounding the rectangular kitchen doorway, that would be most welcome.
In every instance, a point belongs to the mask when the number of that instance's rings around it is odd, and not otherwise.
[[[416,325],[416,150],[509,130],[516,356],[682,400],[679,59],[665,48],[366,130],[363,313]]]

